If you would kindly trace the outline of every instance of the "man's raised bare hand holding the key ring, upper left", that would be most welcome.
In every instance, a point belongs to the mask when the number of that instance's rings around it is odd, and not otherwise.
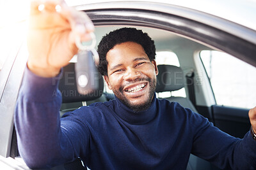
[[[64,1],[32,1],[29,15],[29,69],[38,76],[51,77],[77,53],[76,38],[92,39],[88,16]]]

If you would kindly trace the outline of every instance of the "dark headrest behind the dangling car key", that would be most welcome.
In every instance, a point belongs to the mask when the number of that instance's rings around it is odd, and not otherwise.
[[[70,62],[63,67],[63,74],[59,83],[59,90],[62,94],[62,103],[72,103],[80,101],[92,101],[100,97],[103,93],[104,81],[102,75],[97,71],[95,78],[99,79],[99,89],[87,95],[81,95],[76,87],[75,63]]]

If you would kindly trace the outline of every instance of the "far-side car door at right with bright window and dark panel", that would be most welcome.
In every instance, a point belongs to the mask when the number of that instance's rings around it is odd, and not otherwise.
[[[214,125],[243,138],[250,129],[248,111],[256,106],[256,68],[225,52],[204,50],[199,55],[216,100],[209,108]]]

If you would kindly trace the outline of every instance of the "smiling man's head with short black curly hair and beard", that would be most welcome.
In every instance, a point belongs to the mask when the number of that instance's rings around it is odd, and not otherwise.
[[[109,41],[109,36],[100,42],[99,70],[104,74],[109,89],[113,90],[122,103],[134,111],[147,110],[154,96],[158,74],[154,60],[156,55],[154,41],[147,34],[136,31],[136,29],[124,28],[115,33],[115,36],[111,37],[113,47],[108,44],[108,48],[104,48],[106,39]],[[112,40],[116,36],[122,36],[122,40],[118,43]],[[145,46],[152,48],[146,48],[148,51],[145,52],[143,46],[140,45],[143,44],[142,42]]]

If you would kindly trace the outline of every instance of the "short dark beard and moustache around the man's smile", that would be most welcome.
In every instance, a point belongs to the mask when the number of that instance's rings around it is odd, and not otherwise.
[[[143,103],[140,104],[132,104],[129,99],[127,99],[127,97],[125,97],[124,95],[124,85],[120,86],[120,88],[118,90],[114,90],[113,92],[115,94],[115,96],[126,106],[128,106],[129,108],[131,108],[134,112],[140,112],[140,111],[144,111],[147,110],[151,103],[152,103],[152,99],[154,96],[154,92],[156,90],[156,78],[137,78],[136,80],[132,81],[131,83],[136,83],[138,81],[148,81],[149,84],[149,92],[148,92],[148,97],[147,99],[145,99],[145,101]]]

